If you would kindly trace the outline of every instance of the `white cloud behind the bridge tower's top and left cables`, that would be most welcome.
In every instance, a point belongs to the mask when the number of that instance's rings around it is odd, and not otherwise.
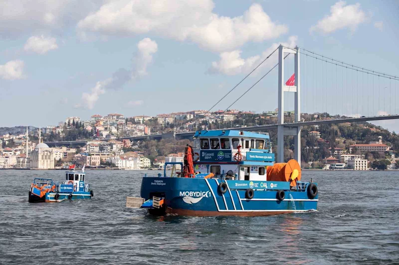
[[[288,42],[281,43],[286,47],[295,47],[298,40],[297,36],[291,36]],[[220,53],[220,60],[212,62],[212,66],[208,69],[210,74],[224,74],[228,76],[237,74],[248,74],[256,66],[258,66],[267,56],[269,56],[280,43],[273,43],[261,55],[255,55],[246,59],[241,58],[241,51],[235,50],[231,52]],[[269,59],[267,59],[255,72],[261,68],[274,66],[278,62],[278,52],[276,51]],[[254,74],[256,75],[256,73]]]

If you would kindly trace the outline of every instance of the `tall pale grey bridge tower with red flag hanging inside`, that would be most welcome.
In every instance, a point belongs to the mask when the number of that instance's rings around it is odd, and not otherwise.
[[[286,86],[284,81],[284,56],[285,54],[293,53],[295,55],[295,86]],[[277,127],[277,162],[284,162],[284,135],[294,136],[295,160],[301,164],[301,127],[284,125],[284,92],[295,93],[295,122],[301,121],[301,106],[300,106],[300,69],[299,69],[299,48],[286,48],[282,45],[278,48],[278,127]],[[290,74],[290,73],[289,73]]]

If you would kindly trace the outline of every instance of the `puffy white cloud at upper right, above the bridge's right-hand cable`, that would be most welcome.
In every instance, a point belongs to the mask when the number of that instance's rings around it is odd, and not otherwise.
[[[344,28],[355,31],[358,25],[367,19],[366,13],[360,8],[360,3],[346,5],[345,1],[339,1],[331,6],[330,12],[317,21],[317,24],[310,28],[310,32],[328,34]]]

